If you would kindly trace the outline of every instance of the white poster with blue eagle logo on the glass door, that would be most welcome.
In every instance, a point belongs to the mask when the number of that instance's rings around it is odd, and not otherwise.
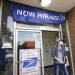
[[[38,49],[20,49],[19,75],[41,75],[38,58]]]

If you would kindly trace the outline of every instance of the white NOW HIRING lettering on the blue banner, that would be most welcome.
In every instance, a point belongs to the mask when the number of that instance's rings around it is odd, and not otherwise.
[[[17,15],[35,17],[36,13],[17,9]],[[65,17],[63,15],[60,15],[60,16],[51,15],[51,16],[49,16],[48,14],[42,14],[42,13],[37,13],[37,18],[51,19],[51,20],[64,20],[65,19]]]

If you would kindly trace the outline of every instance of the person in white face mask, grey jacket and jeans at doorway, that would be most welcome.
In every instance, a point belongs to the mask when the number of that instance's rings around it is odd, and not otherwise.
[[[57,44],[52,49],[51,56],[54,59],[55,75],[59,75],[60,69],[63,75],[69,75],[65,67],[65,64],[67,62],[67,55],[63,40],[57,40]]]

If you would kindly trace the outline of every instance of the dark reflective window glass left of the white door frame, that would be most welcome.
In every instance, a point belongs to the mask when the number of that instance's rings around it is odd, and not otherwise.
[[[0,75],[13,75],[13,19],[8,7],[8,0],[3,0],[2,10],[2,49],[5,49],[5,64]]]

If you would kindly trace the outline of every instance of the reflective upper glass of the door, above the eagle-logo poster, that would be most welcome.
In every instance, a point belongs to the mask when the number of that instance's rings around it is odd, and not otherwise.
[[[18,33],[18,48],[19,49],[34,49],[40,47],[40,35],[35,32],[19,32]]]

